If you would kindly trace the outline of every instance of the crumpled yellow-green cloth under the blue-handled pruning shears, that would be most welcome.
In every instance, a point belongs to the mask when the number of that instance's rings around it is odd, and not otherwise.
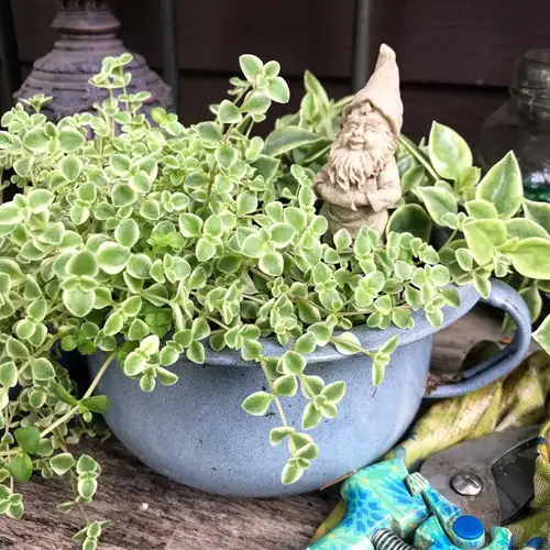
[[[547,421],[538,447],[535,498],[522,519],[507,527],[514,535],[515,549],[550,550],[549,392],[550,356],[537,351],[505,378],[432,405],[416,422],[410,436],[385,459],[399,458],[407,468],[415,470],[431,454],[466,439]],[[342,501],[321,524],[314,540],[330,531],[344,513]]]

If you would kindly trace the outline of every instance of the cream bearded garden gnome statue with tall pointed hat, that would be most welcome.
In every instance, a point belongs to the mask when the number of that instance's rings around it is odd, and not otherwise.
[[[399,69],[395,52],[383,44],[366,86],[342,114],[342,130],[315,191],[333,235],[345,228],[354,239],[363,226],[383,234],[388,213],[402,196],[394,153],[403,124]]]

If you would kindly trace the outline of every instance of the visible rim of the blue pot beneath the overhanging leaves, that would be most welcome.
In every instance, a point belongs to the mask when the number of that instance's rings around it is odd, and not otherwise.
[[[438,328],[433,328],[426,319],[424,309],[419,309],[413,311],[413,319],[415,320],[415,328],[413,329],[399,329],[398,327],[391,326],[386,330],[381,330],[371,329],[366,324],[362,324],[353,327],[350,331],[359,338],[361,345],[369,351],[377,350],[394,336],[398,337],[397,348],[431,337],[466,315],[480,299],[480,295],[472,285],[460,287],[455,285],[450,286],[454,286],[459,292],[460,306],[458,308],[444,306],[442,308],[443,322]],[[342,332],[344,331],[338,331],[336,333],[341,334]],[[265,356],[278,356],[285,353],[285,351],[288,351],[288,346],[280,345],[275,337],[261,338],[260,342],[262,342],[262,353]],[[205,345],[205,366],[250,366],[255,364],[251,361],[244,361],[238,350],[224,349],[222,351],[213,351],[208,344]],[[312,353],[307,354],[308,364],[343,361],[346,358],[349,358],[349,355],[342,355],[332,345],[317,348]]]

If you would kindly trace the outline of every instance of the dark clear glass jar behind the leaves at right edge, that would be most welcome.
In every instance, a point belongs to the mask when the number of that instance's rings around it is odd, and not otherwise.
[[[550,50],[530,50],[519,59],[509,94],[482,127],[477,163],[486,170],[513,150],[525,196],[550,202]]]

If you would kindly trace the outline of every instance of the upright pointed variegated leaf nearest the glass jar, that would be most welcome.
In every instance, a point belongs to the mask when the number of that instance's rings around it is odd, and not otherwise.
[[[480,182],[476,199],[493,204],[502,218],[512,218],[521,206],[524,187],[516,155],[510,151]]]

